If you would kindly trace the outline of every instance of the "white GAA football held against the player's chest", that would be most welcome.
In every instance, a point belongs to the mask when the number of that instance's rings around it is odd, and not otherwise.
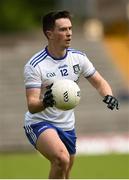
[[[52,86],[52,94],[55,107],[61,110],[73,109],[80,101],[80,88],[69,79],[56,80]]]

